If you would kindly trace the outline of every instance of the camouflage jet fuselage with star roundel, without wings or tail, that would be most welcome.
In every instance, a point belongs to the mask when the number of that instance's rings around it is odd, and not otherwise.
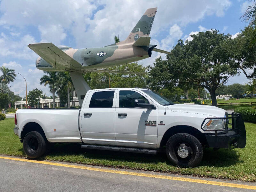
[[[131,43],[116,43],[100,48],[73,49],[68,46],[58,46],[58,48],[81,64],[80,68],[76,68],[77,71],[108,68],[149,57],[148,46],[133,46]],[[36,60],[36,68],[44,71],[56,71],[56,68],[41,57]],[[67,69],[63,69],[63,71],[65,70]]]

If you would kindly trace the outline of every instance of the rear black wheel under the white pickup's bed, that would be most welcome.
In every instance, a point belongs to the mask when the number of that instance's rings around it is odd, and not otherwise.
[[[42,156],[46,151],[46,142],[42,134],[36,131],[28,132],[23,140],[23,150],[31,159]]]

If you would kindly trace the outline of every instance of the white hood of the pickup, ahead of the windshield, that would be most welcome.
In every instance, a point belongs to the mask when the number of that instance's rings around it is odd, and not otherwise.
[[[167,107],[175,112],[197,113],[214,117],[224,117],[224,114],[226,112],[226,110],[224,109],[207,105],[175,104],[168,105]]]

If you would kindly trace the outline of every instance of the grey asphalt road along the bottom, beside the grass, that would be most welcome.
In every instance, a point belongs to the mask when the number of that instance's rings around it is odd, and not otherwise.
[[[179,175],[119,169],[126,171],[126,173],[120,174],[116,172],[116,169],[104,167],[86,165],[86,167],[89,167],[91,170],[84,170],[80,167],[85,166],[80,164],[60,164],[60,162],[58,162],[59,165],[54,165],[56,162],[49,163],[47,161],[37,161],[38,163],[35,163],[35,161],[24,162],[11,159],[2,159],[1,157],[3,156],[0,156],[0,191],[256,191],[150,177],[152,174],[157,174],[158,177],[161,177],[162,175],[165,177],[173,176],[175,179],[177,177],[181,177]],[[9,158],[8,156],[4,156],[4,158],[6,157]],[[104,172],[104,170],[107,172]],[[127,173],[132,173],[133,175],[129,175]],[[138,173],[138,175],[147,173],[150,175],[145,177],[134,175],[134,173]],[[219,181],[222,183],[224,182],[224,184],[226,182],[242,185],[255,184],[241,181],[213,180],[185,176],[182,177],[186,178],[187,180],[188,178],[191,178],[192,180],[210,180],[210,182]]]

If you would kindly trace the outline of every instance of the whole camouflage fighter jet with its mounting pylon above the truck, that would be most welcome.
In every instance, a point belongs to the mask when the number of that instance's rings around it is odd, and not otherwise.
[[[69,71],[76,92],[81,96],[79,99],[81,102],[84,94],[90,89],[83,80],[81,72],[141,74],[141,72],[102,68],[146,59],[151,56],[152,51],[170,53],[150,44],[149,33],[156,10],[157,8],[148,9],[124,41],[105,47],[73,49],[63,45],[55,46],[52,43],[29,44],[28,47],[40,56],[36,60],[36,68],[44,71]]]

